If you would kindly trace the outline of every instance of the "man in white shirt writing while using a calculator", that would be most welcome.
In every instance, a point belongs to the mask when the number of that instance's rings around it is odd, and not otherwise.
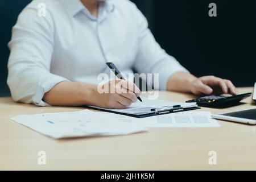
[[[39,16],[42,3],[46,16]],[[128,0],[34,0],[20,13],[9,47],[7,84],[19,102],[125,108],[140,94],[133,82],[104,85],[123,92],[97,90],[97,76],[109,72],[108,61],[122,73],[159,73],[155,89],[237,94],[229,80],[191,75],[160,48],[146,18]]]

